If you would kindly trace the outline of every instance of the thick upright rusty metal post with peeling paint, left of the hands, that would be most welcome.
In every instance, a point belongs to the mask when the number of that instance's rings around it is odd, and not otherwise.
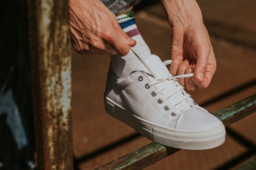
[[[68,1],[28,0],[38,169],[73,169]]]

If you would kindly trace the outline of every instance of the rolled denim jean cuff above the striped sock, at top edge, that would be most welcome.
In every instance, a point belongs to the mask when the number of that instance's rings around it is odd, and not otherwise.
[[[109,8],[115,15],[120,12],[128,4],[132,6],[138,4],[141,0],[101,0],[101,2]]]

